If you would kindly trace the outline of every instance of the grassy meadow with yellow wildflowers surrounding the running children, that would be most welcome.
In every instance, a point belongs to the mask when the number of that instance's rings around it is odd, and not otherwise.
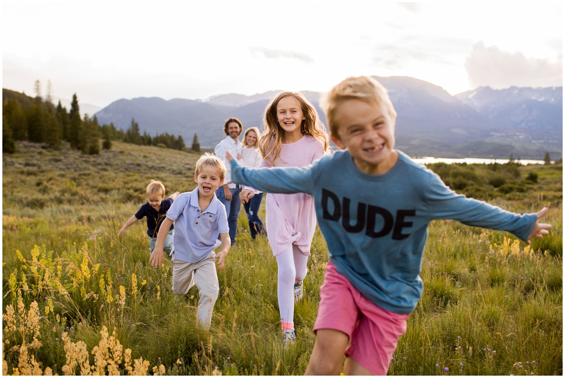
[[[162,181],[167,195],[194,189],[197,158],[118,142],[95,156],[27,142],[3,155],[4,374],[304,373],[328,261],[319,231],[288,350],[276,260],[266,238],[251,240],[245,211],[218,274],[208,332],[195,324],[197,288],[175,296],[171,263],[149,266],[145,219],[117,236],[144,203],[150,179]],[[530,248],[509,233],[433,221],[423,297],[389,374],[562,375],[562,166],[431,168],[459,192],[510,211],[549,207],[544,220],[553,230]]]

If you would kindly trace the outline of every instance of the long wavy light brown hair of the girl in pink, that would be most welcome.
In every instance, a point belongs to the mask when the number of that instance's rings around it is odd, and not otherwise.
[[[282,92],[273,98],[265,108],[263,115],[265,131],[259,141],[261,155],[273,166],[275,161],[280,159],[282,136],[284,134],[284,129],[279,124],[279,118],[277,117],[277,105],[279,105],[279,101],[282,98],[291,96],[298,101],[302,116],[306,118],[300,124],[300,131],[302,134],[314,137],[323,146],[324,152],[328,152],[328,133],[325,131],[324,124],[320,121],[316,108],[300,92]],[[273,143],[271,143],[271,139],[274,140]]]

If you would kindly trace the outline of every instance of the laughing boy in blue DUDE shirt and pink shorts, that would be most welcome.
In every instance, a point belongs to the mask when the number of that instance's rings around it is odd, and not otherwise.
[[[386,375],[421,297],[420,265],[431,220],[505,230],[528,244],[551,225],[537,222],[547,208],[519,215],[466,198],[394,150],[396,111],[372,78],[342,81],[324,107],[341,151],[308,167],[270,169],[242,167],[227,153],[232,181],[263,192],[314,196],[330,262],[306,375],[339,374],[344,353],[346,375]]]

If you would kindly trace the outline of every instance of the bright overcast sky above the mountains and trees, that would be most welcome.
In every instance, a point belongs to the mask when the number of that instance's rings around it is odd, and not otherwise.
[[[120,98],[325,92],[352,75],[456,94],[561,86],[560,3],[3,2],[2,86]]]

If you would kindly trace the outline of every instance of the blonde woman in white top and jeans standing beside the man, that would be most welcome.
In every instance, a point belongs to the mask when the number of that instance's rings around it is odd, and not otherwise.
[[[259,138],[261,134],[257,127],[250,127],[244,133],[243,148],[241,154],[237,154],[237,160],[240,164],[247,167],[259,167],[262,160],[261,154],[258,150]],[[249,202],[244,203],[247,220],[249,220],[249,229],[251,230],[251,237],[255,238],[257,234],[265,234],[265,227],[263,222],[259,219],[259,206],[263,199],[263,192],[255,192]]]

